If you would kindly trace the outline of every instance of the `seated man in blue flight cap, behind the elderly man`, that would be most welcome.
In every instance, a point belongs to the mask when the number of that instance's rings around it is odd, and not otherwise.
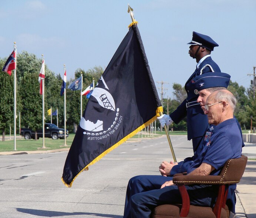
[[[212,91],[215,91],[216,89],[226,89],[229,81],[230,81],[230,75],[226,73],[208,73],[205,75],[200,75],[195,77],[195,83],[193,85],[193,89],[196,90],[196,92],[200,93],[201,91],[208,90],[206,93],[207,96],[209,93]],[[202,105],[205,104],[206,98],[202,99],[202,97],[198,96],[198,102],[200,102]],[[202,110],[202,109],[201,109]],[[240,125],[237,122],[237,125],[240,129]],[[205,129],[205,133],[203,134],[204,137],[202,137],[202,140],[197,147],[194,156],[189,157],[184,159],[184,161],[179,162],[176,165],[173,165],[171,170],[169,172],[164,172],[162,173],[161,170],[165,170],[164,167],[161,169],[162,164],[165,165],[164,163],[161,164],[160,172],[163,174],[163,176],[156,176],[156,175],[140,175],[140,176],[135,176],[130,179],[128,185],[127,185],[127,191],[126,191],[126,200],[125,200],[125,207],[124,207],[124,218],[130,217],[130,198],[137,193],[142,193],[144,191],[150,191],[154,189],[159,189],[162,184],[164,184],[166,181],[172,180],[172,176],[176,173],[183,173],[187,172],[188,168],[191,166],[193,161],[196,159],[196,157],[200,154],[202,149],[204,148],[205,144],[208,142],[208,139],[210,135],[212,134],[215,126],[214,125],[209,125],[207,129]],[[240,134],[242,138],[242,131],[240,129]],[[244,144],[242,143],[242,146]],[[165,162],[166,165],[168,164]],[[169,163],[170,164],[170,163]],[[230,192],[227,197],[227,205],[229,206],[229,210],[235,213],[235,186],[230,187]]]

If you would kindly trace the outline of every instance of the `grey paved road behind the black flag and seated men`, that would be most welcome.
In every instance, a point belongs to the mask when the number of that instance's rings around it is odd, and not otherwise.
[[[172,136],[178,160],[191,156],[187,136]],[[126,185],[159,174],[172,155],[166,136],[129,141],[81,173],[72,188],[61,181],[67,152],[0,156],[1,218],[122,218]]]

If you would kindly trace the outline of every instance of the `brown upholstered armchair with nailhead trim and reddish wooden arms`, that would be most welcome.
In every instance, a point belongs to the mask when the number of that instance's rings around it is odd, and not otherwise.
[[[229,210],[226,198],[229,184],[239,183],[243,176],[247,163],[247,157],[229,159],[222,168],[219,176],[190,176],[182,173],[175,174],[173,183],[177,184],[182,196],[182,204],[164,204],[157,206],[152,211],[152,218],[229,218]],[[190,205],[186,187],[188,184],[212,184],[219,186],[219,193],[215,207],[200,207]]]

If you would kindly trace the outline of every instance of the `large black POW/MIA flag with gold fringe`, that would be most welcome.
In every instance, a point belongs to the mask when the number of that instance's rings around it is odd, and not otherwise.
[[[86,105],[63,169],[67,187],[163,111],[136,23],[130,24]]]

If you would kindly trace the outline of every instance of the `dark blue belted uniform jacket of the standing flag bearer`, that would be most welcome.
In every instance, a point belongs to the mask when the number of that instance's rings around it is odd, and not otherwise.
[[[198,94],[195,92],[193,85],[193,78],[209,72],[220,72],[219,66],[212,60],[211,57],[207,57],[199,65],[199,68],[189,77],[185,84],[185,90],[187,92],[187,98],[177,107],[173,113],[170,114],[174,123],[179,123],[184,117],[187,116],[187,139],[203,136],[205,129],[208,126],[207,115],[203,113],[200,105],[186,107],[186,103],[196,101]]]

